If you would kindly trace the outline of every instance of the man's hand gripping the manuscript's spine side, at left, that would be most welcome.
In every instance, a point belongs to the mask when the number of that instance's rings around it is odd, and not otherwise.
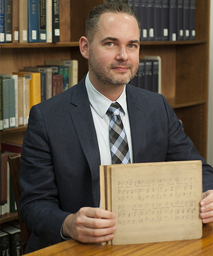
[[[111,211],[83,207],[66,217],[62,227],[64,237],[83,243],[101,243],[114,238],[115,220]]]

